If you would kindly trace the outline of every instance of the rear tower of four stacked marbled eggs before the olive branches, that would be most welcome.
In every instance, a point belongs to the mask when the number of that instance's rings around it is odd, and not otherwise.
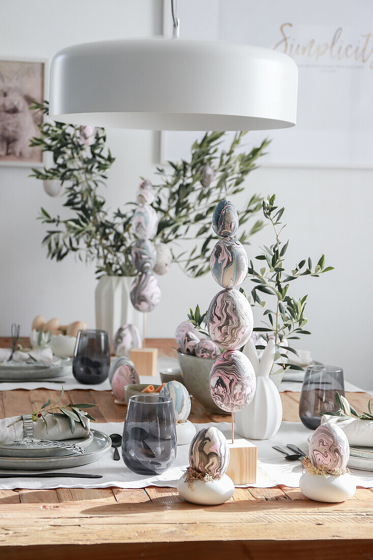
[[[161,299],[161,288],[153,274],[157,262],[157,251],[151,241],[157,233],[158,218],[151,203],[155,199],[155,189],[150,181],[142,181],[137,189],[139,206],[133,214],[131,231],[138,240],[132,248],[132,260],[138,274],[134,279],[130,298],[138,311],[153,311]]]

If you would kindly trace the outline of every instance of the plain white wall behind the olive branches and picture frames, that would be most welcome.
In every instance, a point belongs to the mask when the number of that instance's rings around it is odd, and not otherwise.
[[[160,0],[0,0],[0,58],[50,58],[67,44],[160,31]],[[109,131],[116,156],[106,193],[111,206],[133,199],[138,176],[151,174],[157,141],[151,132]],[[60,200],[49,198],[28,174],[24,167],[0,167],[0,334],[9,332],[12,321],[27,334],[39,313],[94,325],[94,268],[72,258],[62,263],[45,258],[43,226],[35,218],[41,205],[57,213]],[[245,193],[245,198],[276,193],[286,207],[290,265],[309,255],[315,261],[322,252],[334,265],[335,271],[320,279],[293,284],[295,295],[308,293],[310,300],[306,316],[313,335],[301,347],[342,366],[347,379],[364,388],[373,387],[372,179],[367,170],[266,168],[250,175]],[[250,256],[268,235],[257,236]],[[164,296],[148,319],[148,335],[154,337],[171,337],[189,307],[199,303],[205,309],[217,291],[209,275],[187,279],[176,265],[160,285]],[[249,286],[246,281],[246,291]]]

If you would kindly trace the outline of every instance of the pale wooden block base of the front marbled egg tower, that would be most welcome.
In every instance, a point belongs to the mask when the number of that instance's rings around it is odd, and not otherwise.
[[[243,439],[235,440],[233,444],[228,440],[228,446],[230,460],[226,474],[234,484],[255,484],[258,447]]]

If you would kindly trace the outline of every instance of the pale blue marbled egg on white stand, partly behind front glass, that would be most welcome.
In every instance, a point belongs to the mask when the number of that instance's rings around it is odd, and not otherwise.
[[[195,427],[188,420],[191,404],[188,390],[179,381],[169,381],[160,390],[160,395],[172,399],[174,404],[178,445],[190,444],[195,434]]]

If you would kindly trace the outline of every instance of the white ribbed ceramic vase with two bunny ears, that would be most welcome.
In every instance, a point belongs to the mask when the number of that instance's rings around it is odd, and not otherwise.
[[[274,340],[269,340],[260,361],[252,340],[245,349],[254,366],[257,390],[251,403],[235,413],[237,431],[251,440],[269,440],[278,432],[282,421],[281,397],[276,385],[269,379],[276,345]]]

